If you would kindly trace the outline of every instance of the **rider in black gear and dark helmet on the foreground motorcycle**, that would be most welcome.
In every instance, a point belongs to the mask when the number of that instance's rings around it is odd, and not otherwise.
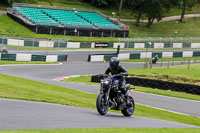
[[[120,80],[119,89],[121,89],[122,92],[126,93],[126,81],[124,76],[128,76],[128,72],[119,65],[119,59],[117,57],[112,57],[110,59],[110,65],[105,71],[105,74],[109,75],[109,73],[111,73],[112,75],[116,75],[116,78]]]

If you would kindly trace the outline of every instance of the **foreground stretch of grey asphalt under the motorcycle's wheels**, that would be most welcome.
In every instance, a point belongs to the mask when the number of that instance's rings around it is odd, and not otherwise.
[[[0,129],[63,129],[63,128],[195,128],[196,126],[145,117],[124,117],[96,110],[57,104],[0,99]],[[6,113],[5,113],[6,112]]]

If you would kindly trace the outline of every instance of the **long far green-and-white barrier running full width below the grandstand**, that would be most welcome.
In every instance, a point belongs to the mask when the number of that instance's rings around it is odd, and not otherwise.
[[[95,48],[95,43],[101,42],[68,42],[68,41],[49,41],[49,40],[35,40],[32,39],[12,39],[7,37],[0,37],[0,43],[14,45],[14,46],[31,46],[31,47],[52,47],[52,48]],[[200,43],[135,43],[135,42],[109,42],[107,48],[200,48]]]

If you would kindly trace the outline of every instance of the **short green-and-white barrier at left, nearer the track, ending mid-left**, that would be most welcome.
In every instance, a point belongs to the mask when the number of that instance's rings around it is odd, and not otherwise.
[[[0,54],[2,61],[67,61],[67,55],[32,55],[32,54]]]

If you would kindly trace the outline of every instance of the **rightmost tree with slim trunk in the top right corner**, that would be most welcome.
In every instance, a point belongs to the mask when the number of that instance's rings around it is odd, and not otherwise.
[[[182,10],[180,22],[184,22],[185,12],[197,4],[197,0],[180,0],[179,8]]]

